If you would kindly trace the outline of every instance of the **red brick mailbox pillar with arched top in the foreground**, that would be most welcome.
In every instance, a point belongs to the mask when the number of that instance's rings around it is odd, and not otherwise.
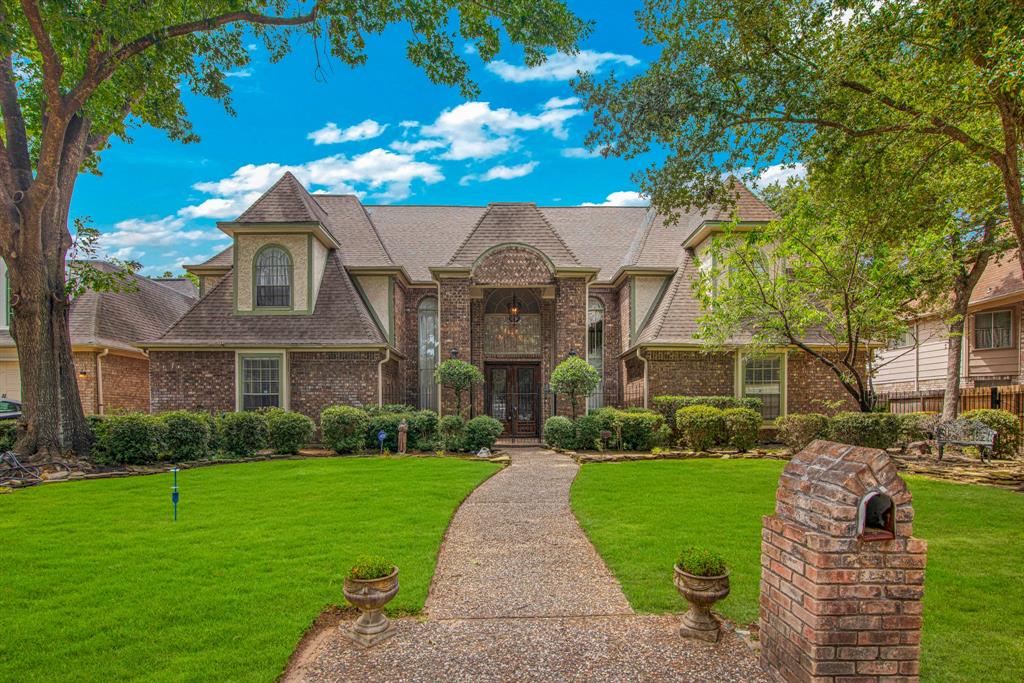
[[[918,681],[927,544],[889,456],[814,441],[761,544],[761,663],[783,681]]]

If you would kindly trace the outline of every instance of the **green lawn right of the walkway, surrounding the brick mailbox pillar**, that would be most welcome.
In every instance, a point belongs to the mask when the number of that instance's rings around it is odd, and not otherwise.
[[[639,611],[681,611],[672,585],[679,548],[719,550],[732,569],[720,603],[758,614],[761,516],[774,508],[783,463],[692,460],[585,465],[572,509]],[[907,477],[914,535],[929,542],[922,677],[1024,680],[1024,496]],[[642,495],[637,495],[642,492]]]

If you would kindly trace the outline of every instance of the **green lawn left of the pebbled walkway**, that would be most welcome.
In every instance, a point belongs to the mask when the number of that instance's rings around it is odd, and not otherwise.
[[[325,459],[0,496],[0,680],[273,681],[361,553],[423,607],[456,507],[497,470]]]

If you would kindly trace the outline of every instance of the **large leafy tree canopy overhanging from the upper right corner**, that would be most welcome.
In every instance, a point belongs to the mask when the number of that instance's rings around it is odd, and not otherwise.
[[[638,175],[663,211],[732,201],[726,172],[813,167],[857,141],[899,147],[907,169],[955,148],[1000,189],[1024,252],[1024,2],[647,0],[638,17],[660,56],[578,90],[591,144],[667,150]]]

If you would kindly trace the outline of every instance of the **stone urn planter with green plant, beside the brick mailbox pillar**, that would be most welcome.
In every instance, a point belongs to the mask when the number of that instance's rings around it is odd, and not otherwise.
[[[683,614],[679,635],[718,642],[721,625],[711,607],[729,595],[729,569],[718,553],[705,548],[683,548],[676,563],[676,590],[690,608]]]

